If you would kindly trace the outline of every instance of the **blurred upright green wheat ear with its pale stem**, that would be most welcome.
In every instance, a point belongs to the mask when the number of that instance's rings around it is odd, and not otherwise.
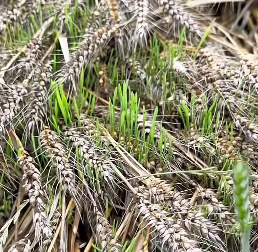
[[[240,224],[242,236],[242,252],[249,251],[251,232],[249,208],[249,171],[244,163],[238,163],[234,174],[235,209]]]

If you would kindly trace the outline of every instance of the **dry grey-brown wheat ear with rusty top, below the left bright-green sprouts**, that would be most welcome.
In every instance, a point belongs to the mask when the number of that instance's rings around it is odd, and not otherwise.
[[[68,191],[76,199],[75,174],[65,146],[58,135],[47,127],[41,132],[40,139],[42,147],[50,154],[53,165],[57,169],[57,174],[60,176],[59,182],[62,184],[63,190]]]

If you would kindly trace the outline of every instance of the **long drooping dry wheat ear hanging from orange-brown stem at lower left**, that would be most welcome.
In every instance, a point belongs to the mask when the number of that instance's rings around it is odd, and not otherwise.
[[[18,164],[23,170],[23,181],[25,182],[25,193],[28,193],[30,204],[33,206],[33,222],[35,224],[36,237],[43,234],[46,238],[52,237],[52,230],[48,218],[45,214],[45,204],[43,202],[45,193],[42,189],[41,174],[36,168],[36,162],[23,150],[18,156]]]

